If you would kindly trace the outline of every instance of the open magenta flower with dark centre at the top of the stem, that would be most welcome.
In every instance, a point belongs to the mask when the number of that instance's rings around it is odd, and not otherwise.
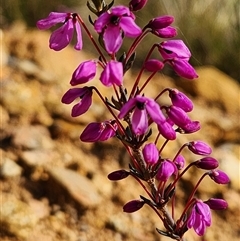
[[[127,37],[137,37],[142,33],[134,22],[134,15],[125,6],[116,6],[104,12],[94,23],[98,33],[103,34],[105,48],[109,54],[116,53],[122,45],[122,32]]]

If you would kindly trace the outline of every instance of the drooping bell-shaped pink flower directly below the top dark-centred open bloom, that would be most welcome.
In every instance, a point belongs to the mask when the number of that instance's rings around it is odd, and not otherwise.
[[[109,61],[101,73],[100,80],[105,86],[113,84],[121,86],[123,82],[122,63],[115,60]]]

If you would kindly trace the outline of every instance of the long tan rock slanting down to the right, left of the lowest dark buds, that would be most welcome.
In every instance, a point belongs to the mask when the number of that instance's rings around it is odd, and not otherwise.
[[[60,197],[62,192],[54,193],[57,189],[64,189],[71,198],[84,208],[96,207],[101,202],[96,187],[86,177],[66,168],[55,167],[48,170],[50,177],[55,183],[50,188],[53,195]],[[56,187],[58,185],[58,187]]]

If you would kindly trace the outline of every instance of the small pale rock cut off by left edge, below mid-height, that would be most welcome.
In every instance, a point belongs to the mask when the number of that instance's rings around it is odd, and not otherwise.
[[[22,173],[22,168],[13,160],[3,158],[0,168],[0,176],[4,178],[19,177]]]

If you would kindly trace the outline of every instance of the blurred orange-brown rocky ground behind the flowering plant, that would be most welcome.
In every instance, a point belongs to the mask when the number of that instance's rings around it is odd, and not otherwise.
[[[49,33],[27,31],[16,24],[1,32],[1,163],[0,239],[3,241],[167,241],[157,234],[161,223],[148,207],[126,214],[122,206],[143,190],[131,178],[113,183],[107,174],[127,167],[128,156],[117,140],[84,144],[79,134],[87,123],[104,120],[105,109],[94,97],[88,114],[70,117],[70,106],[60,103],[69,88],[73,70],[90,58],[72,48],[48,49]],[[214,147],[213,156],[228,173],[228,186],[206,179],[198,195],[221,197],[226,211],[213,212],[213,224],[205,241],[237,241],[240,238],[239,84],[213,67],[197,69],[198,81],[174,81],[159,75],[148,92],[163,87],[183,89],[195,103],[192,119],[202,129],[180,136],[165,155],[172,156],[187,141],[202,139]],[[129,81],[132,75],[128,74]],[[96,85],[98,83],[96,82]],[[100,87],[99,87],[100,88]],[[106,89],[102,91],[108,95]],[[164,100],[163,100],[164,101]],[[189,161],[193,156],[189,155]],[[181,182],[178,211],[184,193],[199,173],[192,171]],[[200,241],[189,232],[187,241]]]

